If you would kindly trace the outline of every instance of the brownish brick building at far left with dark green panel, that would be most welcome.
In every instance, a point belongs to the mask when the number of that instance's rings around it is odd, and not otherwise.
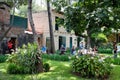
[[[4,40],[12,40],[14,47],[24,43],[24,31],[27,29],[27,18],[10,15],[10,6],[0,2],[0,44],[2,37],[8,31]],[[0,46],[1,47],[1,46]]]

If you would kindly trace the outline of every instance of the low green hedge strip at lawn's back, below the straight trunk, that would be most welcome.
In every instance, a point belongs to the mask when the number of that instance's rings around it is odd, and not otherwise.
[[[59,54],[42,54],[42,58],[57,60],[57,61],[69,61],[67,55],[59,55]]]

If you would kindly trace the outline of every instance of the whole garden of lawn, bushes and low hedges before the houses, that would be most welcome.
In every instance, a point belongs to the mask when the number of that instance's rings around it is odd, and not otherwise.
[[[92,55],[40,54],[44,72],[39,73],[37,47],[28,44],[14,54],[0,55],[0,80],[119,80],[120,57],[108,51]],[[102,49],[100,48],[100,51]],[[109,51],[110,52],[110,51]],[[34,55],[33,55],[34,54]]]

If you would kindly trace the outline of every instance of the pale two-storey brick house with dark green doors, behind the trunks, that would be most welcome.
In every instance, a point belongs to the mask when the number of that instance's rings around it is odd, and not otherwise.
[[[60,49],[61,45],[66,48],[72,48],[72,46],[77,47],[77,36],[73,31],[68,32],[64,26],[60,26],[57,23],[57,19],[63,19],[63,15],[51,11],[52,14],[52,26],[55,50]],[[48,50],[50,47],[50,33],[49,33],[49,23],[48,23],[48,13],[47,11],[41,11],[39,13],[33,13],[33,21],[35,25],[36,32],[41,35],[41,44],[46,45]],[[28,24],[28,31],[31,31],[30,25]]]

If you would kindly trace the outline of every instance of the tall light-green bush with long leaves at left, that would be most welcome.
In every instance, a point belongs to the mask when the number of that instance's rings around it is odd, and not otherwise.
[[[16,68],[17,66],[24,68],[25,71],[21,71],[23,73],[37,73],[37,65],[41,63],[40,60],[40,53],[37,50],[37,45],[28,44],[27,46],[23,45],[15,54],[11,54],[7,61],[15,64]]]

